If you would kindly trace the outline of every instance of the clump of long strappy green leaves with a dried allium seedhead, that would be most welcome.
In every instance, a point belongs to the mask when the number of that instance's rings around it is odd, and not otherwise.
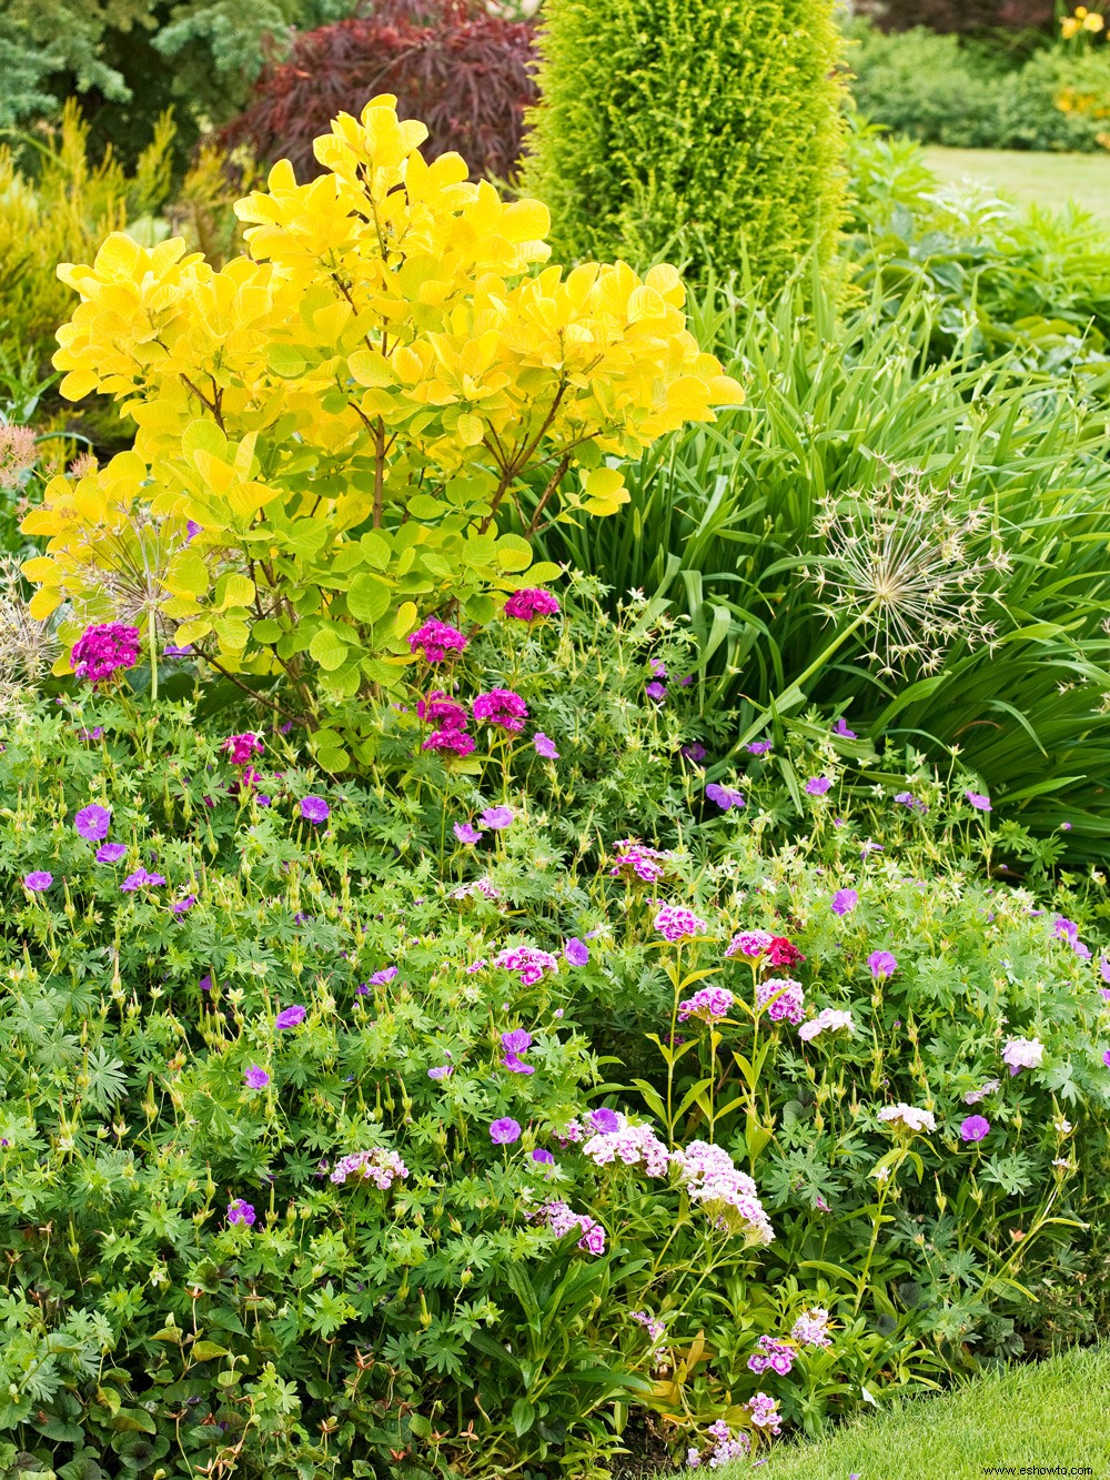
[[[847,712],[873,741],[958,749],[1030,829],[1097,848],[1104,411],[1020,363],[929,363],[921,293],[848,312],[818,284],[753,312],[710,296],[700,329],[734,346],[747,404],[653,448],[620,519],[559,524],[546,552],[688,623],[734,755],[813,704]]]

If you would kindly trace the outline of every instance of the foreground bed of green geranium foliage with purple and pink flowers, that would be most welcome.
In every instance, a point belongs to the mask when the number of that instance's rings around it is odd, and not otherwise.
[[[703,789],[679,636],[582,611],[416,675],[472,712],[469,770],[410,699],[336,784],[198,727],[182,660],[170,704],[117,673],[9,707],[15,1444],[602,1476],[629,1406],[759,1449],[1100,1319],[1060,1283],[1106,1168],[1100,974],[975,876],[1005,827],[924,770],[845,817],[821,737],[781,845],[765,756]],[[736,1171],[699,1191],[706,1141]]]

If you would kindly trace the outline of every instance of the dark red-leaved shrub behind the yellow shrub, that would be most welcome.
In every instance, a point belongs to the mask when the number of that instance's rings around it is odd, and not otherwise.
[[[524,111],[536,101],[533,28],[474,0],[386,0],[371,16],[305,31],[263,71],[246,112],[221,132],[266,164],[287,158],[297,179],[321,173],[312,139],[337,112],[355,117],[377,93],[403,118],[428,124],[426,160],[457,149],[472,179],[508,179],[521,154]]]

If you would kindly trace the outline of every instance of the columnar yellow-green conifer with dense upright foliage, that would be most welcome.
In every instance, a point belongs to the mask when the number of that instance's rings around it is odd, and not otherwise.
[[[842,195],[832,13],[832,0],[546,4],[525,182],[555,250],[641,266],[679,250],[696,274],[747,263],[771,290],[814,244],[827,258]]]

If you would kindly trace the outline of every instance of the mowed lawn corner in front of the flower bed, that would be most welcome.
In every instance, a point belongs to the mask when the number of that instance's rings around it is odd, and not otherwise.
[[[1002,1468],[1012,1467],[1012,1468]],[[750,1465],[713,1471],[750,1476]],[[829,1439],[771,1450],[761,1480],[981,1480],[987,1474],[1110,1476],[1110,1347],[980,1378]]]

